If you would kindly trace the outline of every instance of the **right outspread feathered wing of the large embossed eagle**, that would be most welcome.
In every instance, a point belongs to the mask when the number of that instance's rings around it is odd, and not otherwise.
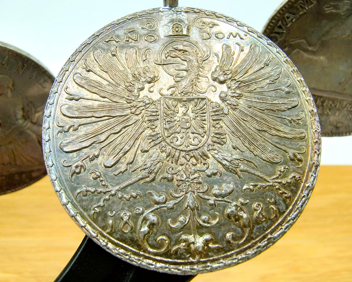
[[[269,54],[260,63],[260,48],[257,44],[251,44],[247,54],[238,63],[241,52],[244,52],[243,46],[238,45],[236,56],[230,45],[222,45],[219,65],[212,72],[212,80],[226,84],[228,89],[226,92],[220,92],[222,103],[211,110],[214,113],[213,121],[222,121],[233,143],[240,142],[253,155],[264,161],[280,163],[283,157],[279,150],[286,152],[291,160],[300,159],[297,154],[293,157],[291,149],[281,146],[279,141],[273,141],[278,139],[266,137],[267,134],[294,140],[306,137],[304,130],[282,122],[284,120],[287,123],[300,124],[302,114],[297,117],[282,114],[298,106],[299,100],[295,97],[277,98],[276,95],[265,95],[275,91],[289,94],[293,92],[289,87],[291,82],[287,79],[287,85],[277,85],[282,68],[278,65],[270,66]]]

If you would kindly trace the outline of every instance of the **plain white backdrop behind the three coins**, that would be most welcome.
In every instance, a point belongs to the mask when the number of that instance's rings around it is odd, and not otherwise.
[[[224,13],[262,31],[281,0],[179,0],[180,6]],[[100,27],[163,0],[0,0],[0,41],[37,57],[56,75]],[[322,164],[352,164],[352,136],[323,137]]]

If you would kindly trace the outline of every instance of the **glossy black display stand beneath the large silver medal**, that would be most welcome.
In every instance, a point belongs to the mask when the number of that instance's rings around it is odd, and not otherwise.
[[[188,282],[194,277],[166,274],[134,266],[113,256],[85,236],[54,282]]]

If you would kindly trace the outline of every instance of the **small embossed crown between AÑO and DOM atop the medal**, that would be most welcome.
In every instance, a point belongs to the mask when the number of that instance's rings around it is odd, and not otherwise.
[[[164,37],[189,37],[191,36],[191,23],[186,15],[174,13],[165,17],[161,26]]]

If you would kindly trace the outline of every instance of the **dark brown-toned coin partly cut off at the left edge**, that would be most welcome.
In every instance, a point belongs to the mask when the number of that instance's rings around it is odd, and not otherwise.
[[[0,195],[46,174],[41,132],[53,81],[36,59],[0,42]]]

